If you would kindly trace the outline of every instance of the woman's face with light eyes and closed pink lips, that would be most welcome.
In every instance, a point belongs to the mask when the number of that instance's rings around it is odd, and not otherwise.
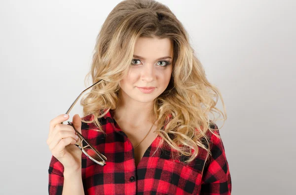
[[[149,103],[158,97],[170,82],[173,54],[170,39],[140,37],[135,44],[132,66],[119,83],[122,98]]]

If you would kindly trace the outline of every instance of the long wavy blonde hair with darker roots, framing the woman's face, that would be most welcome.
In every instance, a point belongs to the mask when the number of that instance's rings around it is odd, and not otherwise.
[[[166,143],[178,157],[189,157],[184,163],[195,159],[199,147],[210,154],[207,132],[220,139],[212,129],[216,121],[214,112],[222,113],[226,120],[221,93],[208,82],[181,22],[166,5],[155,0],[123,0],[108,15],[98,34],[91,70],[86,76],[87,79],[91,75],[93,83],[101,79],[102,82],[81,99],[83,114],[93,116],[91,120],[82,118],[82,121],[95,123],[97,131],[105,134],[99,118],[116,109],[119,81],[131,66],[139,37],[169,38],[174,46],[170,84],[154,100],[152,108],[157,118],[154,132],[162,138],[159,145]],[[216,108],[219,97],[225,115]],[[210,113],[213,120],[209,119]]]

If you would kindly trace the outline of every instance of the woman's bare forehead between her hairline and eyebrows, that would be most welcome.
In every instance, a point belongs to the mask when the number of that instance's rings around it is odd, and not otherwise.
[[[163,56],[173,57],[173,51],[173,41],[169,38],[140,37],[135,43],[134,55],[154,59]]]

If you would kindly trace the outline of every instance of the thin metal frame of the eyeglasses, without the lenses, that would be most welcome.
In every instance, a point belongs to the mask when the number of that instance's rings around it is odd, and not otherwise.
[[[70,108],[68,109],[68,111],[66,112],[66,114],[69,114],[69,112],[73,109],[74,105],[76,104],[76,102],[78,101],[78,99],[81,97],[81,95],[87,91],[89,88],[91,88],[92,86],[96,85],[96,84],[99,84],[100,82],[102,81],[102,79],[98,82],[96,82],[95,84],[91,85],[90,87],[84,89],[79,95],[78,97],[74,100],[74,102],[71,104]],[[63,122],[61,122],[61,124],[64,124]],[[102,167],[106,165],[106,161],[107,161],[107,158],[101,154],[91,143],[89,143],[77,130],[76,128],[74,127],[73,123],[68,121],[68,124],[67,125],[70,125],[73,127],[73,129],[75,130],[76,132],[76,135],[80,138],[80,142],[77,144],[77,143],[74,143],[88,158],[90,158],[92,161],[94,161],[95,163],[101,165]],[[85,141],[87,143],[86,146],[83,146],[82,142]],[[92,158],[90,155],[87,154],[87,152],[84,150],[84,148],[86,147],[90,147],[90,149],[92,149],[100,158],[102,161],[97,161],[96,159]]]

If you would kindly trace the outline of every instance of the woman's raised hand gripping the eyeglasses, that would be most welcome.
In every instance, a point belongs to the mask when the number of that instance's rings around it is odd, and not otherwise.
[[[58,115],[49,123],[49,134],[47,145],[52,155],[58,159],[68,172],[74,172],[81,168],[82,151],[74,145],[80,141],[71,125],[64,125],[61,122],[68,120],[69,115]],[[73,124],[76,130],[81,134],[81,118],[78,114],[73,116]]]

